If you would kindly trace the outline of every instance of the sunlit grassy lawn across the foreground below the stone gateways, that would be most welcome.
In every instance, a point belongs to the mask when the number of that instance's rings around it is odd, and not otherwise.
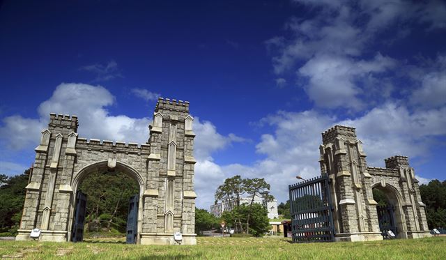
[[[445,259],[446,237],[291,244],[281,237],[198,238],[195,246],[0,241],[2,259]]]

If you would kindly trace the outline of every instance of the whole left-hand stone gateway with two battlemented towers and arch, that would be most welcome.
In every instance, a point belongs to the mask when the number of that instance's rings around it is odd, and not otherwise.
[[[189,102],[160,98],[146,144],[77,136],[77,116],[50,114],[43,130],[16,240],[71,240],[77,188],[92,172],[122,171],[139,185],[137,243],[195,245],[194,132]]]

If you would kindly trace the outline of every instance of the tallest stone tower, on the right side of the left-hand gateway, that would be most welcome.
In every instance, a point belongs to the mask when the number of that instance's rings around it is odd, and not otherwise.
[[[189,102],[158,100],[148,142],[151,154],[147,162],[142,244],[174,244],[174,232],[178,231],[183,233],[182,245],[197,243],[192,120]]]

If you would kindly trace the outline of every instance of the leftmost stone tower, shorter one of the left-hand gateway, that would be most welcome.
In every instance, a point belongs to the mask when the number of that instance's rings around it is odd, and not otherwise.
[[[17,240],[29,240],[40,228],[40,240],[68,240],[68,210],[78,121],[77,116],[50,114],[36,150],[31,182],[26,187],[22,224]]]

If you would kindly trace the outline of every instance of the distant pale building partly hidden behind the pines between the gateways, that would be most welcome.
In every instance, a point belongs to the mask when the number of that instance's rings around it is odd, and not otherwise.
[[[252,200],[252,196],[242,197],[240,198],[240,204],[250,204]],[[261,204],[268,209],[268,218],[275,219],[279,217],[279,213],[277,212],[277,199],[273,199],[270,202],[266,202],[259,196],[254,198],[254,203]],[[232,211],[232,209],[236,206],[237,202],[235,200],[223,201],[218,204],[214,204],[210,206],[210,213],[212,213],[215,217],[221,217],[224,211]]]

